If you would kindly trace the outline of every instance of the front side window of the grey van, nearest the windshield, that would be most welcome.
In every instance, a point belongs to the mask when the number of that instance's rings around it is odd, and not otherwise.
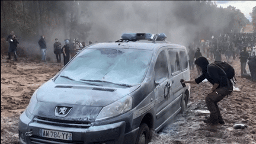
[[[163,79],[168,78],[167,56],[165,55],[164,50],[161,53],[159,53],[159,55],[158,55],[154,71],[155,71],[155,81],[156,82],[159,82]]]

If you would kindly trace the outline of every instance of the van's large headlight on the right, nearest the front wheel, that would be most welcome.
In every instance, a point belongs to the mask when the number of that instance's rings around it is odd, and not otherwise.
[[[132,109],[133,99],[130,96],[126,96],[121,100],[118,100],[110,105],[103,107],[103,109],[98,114],[96,120],[103,120],[110,117],[117,116],[119,114],[126,113]]]

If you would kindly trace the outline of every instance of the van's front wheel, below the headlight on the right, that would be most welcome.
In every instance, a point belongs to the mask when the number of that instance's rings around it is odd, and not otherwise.
[[[148,144],[151,140],[151,133],[147,124],[140,124],[136,144]]]

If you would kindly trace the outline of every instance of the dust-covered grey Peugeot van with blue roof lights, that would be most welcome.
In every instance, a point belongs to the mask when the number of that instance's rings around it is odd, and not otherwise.
[[[126,33],[81,50],[20,116],[20,143],[146,144],[185,110],[187,50],[165,34]]]

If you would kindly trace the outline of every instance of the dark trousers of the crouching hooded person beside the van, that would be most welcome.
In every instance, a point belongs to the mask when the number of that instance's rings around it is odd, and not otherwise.
[[[215,113],[218,117],[221,117],[219,107],[217,103],[221,101],[226,95],[231,94],[233,87],[217,88],[214,92],[210,93],[206,97],[206,105],[210,113]]]

